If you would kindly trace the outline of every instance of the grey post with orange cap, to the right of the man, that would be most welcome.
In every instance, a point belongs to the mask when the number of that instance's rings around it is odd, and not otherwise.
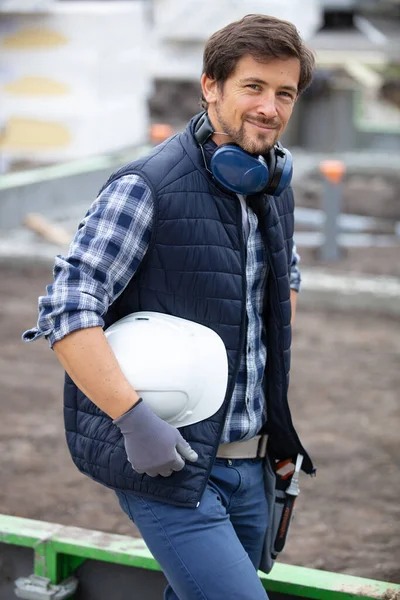
[[[320,247],[320,259],[339,260],[339,215],[342,209],[344,163],[339,160],[325,160],[320,164],[324,176],[322,210],[325,213],[323,242]]]

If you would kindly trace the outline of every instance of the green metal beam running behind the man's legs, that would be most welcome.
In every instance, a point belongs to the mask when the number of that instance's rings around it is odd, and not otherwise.
[[[34,571],[59,583],[85,559],[159,571],[141,538],[0,515],[0,542],[34,549]],[[259,572],[268,591],[314,600],[382,600],[400,585],[277,563]]]

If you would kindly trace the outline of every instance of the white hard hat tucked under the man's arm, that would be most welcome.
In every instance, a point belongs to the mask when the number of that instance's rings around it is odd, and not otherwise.
[[[125,377],[174,427],[217,412],[225,398],[228,360],[215,331],[157,312],[137,312],[105,331]]]

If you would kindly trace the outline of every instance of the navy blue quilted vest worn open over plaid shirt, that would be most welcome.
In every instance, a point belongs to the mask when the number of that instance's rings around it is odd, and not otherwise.
[[[170,477],[136,473],[127,461],[122,435],[66,376],[64,416],[68,446],[77,467],[108,487],[157,497],[177,505],[199,502],[215,459],[245,343],[245,247],[240,203],[217,188],[204,168],[193,138],[198,119],[144,158],[117,171],[111,181],[140,174],[155,199],[155,221],[148,252],[129,285],[105,315],[106,326],[140,310],[190,319],[211,327],[225,343],[229,382],[225,402],[211,418],[180,429],[196,450]],[[270,261],[265,321],[268,360],[266,398],[269,451],[279,458],[305,455],[303,468],[313,466],[293,428],[287,403],[290,367],[289,269],[293,236],[293,194],[250,199],[259,216]]]

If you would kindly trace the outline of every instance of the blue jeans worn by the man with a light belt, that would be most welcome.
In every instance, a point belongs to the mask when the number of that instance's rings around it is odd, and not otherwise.
[[[117,496],[169,582],[164,600],[268,600],[257,575],[268,524],[261,460],[217,458],[194,509]]]

